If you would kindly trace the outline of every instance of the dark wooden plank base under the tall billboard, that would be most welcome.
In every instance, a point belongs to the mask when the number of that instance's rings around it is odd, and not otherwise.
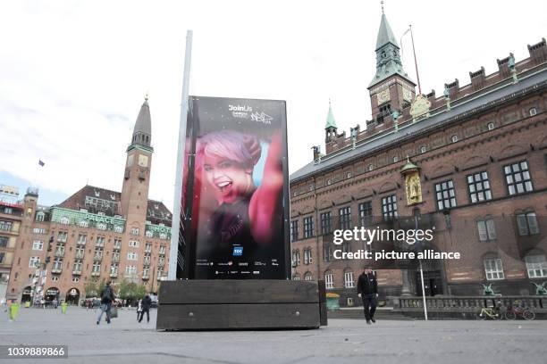
[[[318,328],[327,325],[324,281],[164,281],[158,299],[158,330]]]

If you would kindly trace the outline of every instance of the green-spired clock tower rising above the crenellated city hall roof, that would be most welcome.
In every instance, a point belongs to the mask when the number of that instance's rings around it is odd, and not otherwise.
[[[391,112],[402,112],[410,106],[416,95],[416,84],[403,70],[399,45],[383,12],[376,39],[376,74],[368,91],[373,122],[378,125],[382,125]]]

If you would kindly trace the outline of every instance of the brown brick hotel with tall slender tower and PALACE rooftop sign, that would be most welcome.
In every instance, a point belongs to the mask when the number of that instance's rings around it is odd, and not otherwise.
[[[129,279],[157,291],[167,276],[172,214],[148,199],[151,138],[145,99],[126,151],[121,193],[84,186],[63,203],[43,207],[38,190],[29,188],[18,217],[8,299],[43,295],[76,303],[88,282],[108,279],[114,285]]]

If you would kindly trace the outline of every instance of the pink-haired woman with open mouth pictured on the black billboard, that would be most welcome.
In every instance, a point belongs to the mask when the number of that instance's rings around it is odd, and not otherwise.
[[[269,143],[233,130],[198,137],[194,184],[197,262],[207,266],[281,259],[275,253],[283,245],[281,156],[278,133]],[[218,275],[216,268],[199,267],[201,278]]]

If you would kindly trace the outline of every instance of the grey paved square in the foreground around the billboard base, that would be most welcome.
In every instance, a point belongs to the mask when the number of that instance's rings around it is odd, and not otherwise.
[[[120,310],[111,325],[97,310],[21,309],[0,318],[0,344],[66,344],[59,363],[547,363],[547,321],[382,321],[331,319],[317,330],[156,331]]]

